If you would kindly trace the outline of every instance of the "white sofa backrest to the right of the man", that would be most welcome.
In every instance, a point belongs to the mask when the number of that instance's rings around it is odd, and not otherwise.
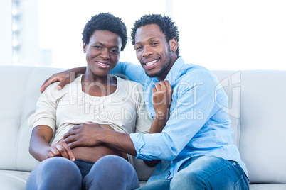
[[[237,142],[252,183],[286,183],[286,71],[213,71],[230,101],[240,96]],[[230,81],[229,86],[226,80]],[[223,86],[223,85],[222,85]],[[239,95],[240,94],[240,95]],[[234,100],[236,98],[234,97]],[[236,101],[236,100],[235,100]],[[239,105],[238,105],[239,106]],[[230,108],[231,107],[230,104]],[[235,108],[236,109],[236,108]]]

